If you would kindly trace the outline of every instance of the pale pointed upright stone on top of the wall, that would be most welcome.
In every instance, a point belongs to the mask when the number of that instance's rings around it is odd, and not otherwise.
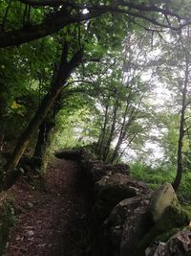
[[[153,216],[153,221],[157,222],[164,210],[169,206],[180,208],[180,203],[172,185],[164,183],[153,193],[150,201],[149,209]]]

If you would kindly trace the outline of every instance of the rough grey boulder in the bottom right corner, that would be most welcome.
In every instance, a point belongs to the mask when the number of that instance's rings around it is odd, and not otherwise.
[[[154,244],[145,251],[146,256],[190,256],[191,228],[187,227],[171,237],[166,243]]]

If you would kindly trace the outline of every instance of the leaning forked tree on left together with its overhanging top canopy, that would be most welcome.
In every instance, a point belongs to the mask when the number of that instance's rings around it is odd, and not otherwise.
[[[89,2],[76,4],[57,0],[22,0],[11,1],[7,5],[6,11],[5,7],[5,3],[3,3],[2,8],[0,8],[0,18],[2,20],[1,47],[20,45],[34,39],[44,38],[46,35],[52,35],[49,39],[53,42],[54,36],[59,42],[65,41],[59,67],[54,69],[51,86],[49,86],[46,96],[21,136],[6,166],[8,172],[5,188],[11,186],[12,170],[16,167],[29,144],[32,134],[46,118],[49,109],[59,96],[63,84],[66,84],[74,68],[80,62],[84,67],[81,58],[83,47],[87,49],[91,48],[91,44],[96,44],[101,48],[102,55],[104,55],[109,50],[117,48],[118,39],[125,34],[125,30],[123,30],[125,27],[128,27],[128,30],[143,27],[153,33],[158,33],[161,27],[179,30],[190,22],[190,20],[185,20],[185,17],[188,17],[187,14],[184,17],[180,16],[179,4],[172,8],[171,5],[167,5],[163,1],[159,1],[158,4],[155,4],[155,1],[146,1],[141,4],[135,4],[132,1],[119,1],[117,5],[113,2],[105,4],[96,1],[93,5]],[[160,22],[162,17],[164,19]],[[183,22],[182,18],[184,18]],[[98,22],[104,24],[101,29],[98,29]],[[58,31],[58,34],[53,35]],[[119,35],[119,32],[121,35]],[[36,47],[36,49],[40,52],[40,47]],[[92,48],[90,56],[94,56],[94,54]]]

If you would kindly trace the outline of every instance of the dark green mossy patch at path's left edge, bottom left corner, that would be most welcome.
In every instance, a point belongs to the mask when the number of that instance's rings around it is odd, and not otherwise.
[[[11,203],[8,201],[2,202],[0,204],[0,255],[4,252],[10,228],[15,221],[16,218]]]

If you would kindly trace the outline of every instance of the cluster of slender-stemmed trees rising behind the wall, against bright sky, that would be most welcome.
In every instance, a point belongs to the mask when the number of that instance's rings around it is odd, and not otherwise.
[[[102,93],[99,93],[98,108],[103,118],[96,151],[103,161],[118,161],[124,153],[121,146],[124,148],[125,144],[129,148],[145,128],[142,119],[149,114],[144,113],[143,98],[150,88],[141,76],[150,62],[149,58],[145,60],[147,46],[150,45],[148,38],[141,33],[128,35],[123,58],[117,59],[102,81],[99,79],[99,91]]]

